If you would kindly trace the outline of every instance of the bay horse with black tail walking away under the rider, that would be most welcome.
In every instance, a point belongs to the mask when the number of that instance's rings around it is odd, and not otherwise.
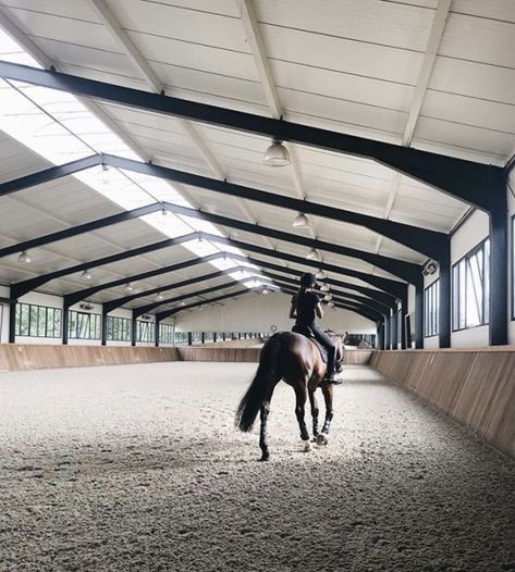
[[[327,332],[336,344],[336,372],[342,371],[343,344],[340,336]],[[267,420],[270,412],[270,400],[275,385],[283,380],[295,391],[295,414],[301,430],[304,450],[310,449],[309,433],[305,422],[306,398],[309,396],[312,416],[312,434],[317,445],[327,445],[329,427],[333,416],[333,385],[323,383],[327,364],[323,362],[318,346],[308,337],[293,332],[274,334],[262,347],[259,365],[246,394],[237,408],[235,425],[243,432],[253,428],[258,412],[261,418],[259,447],[261,461],[268,461]],[[318,406],[315,391],[320,387],[326,401],[326,420],[322,431],[318,431]]]

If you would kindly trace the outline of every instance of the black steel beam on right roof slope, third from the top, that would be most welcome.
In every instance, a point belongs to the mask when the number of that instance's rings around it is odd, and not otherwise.
[[[275,238],[277,240],[283,240],[294,245],[302,245],[308,248],[316,248],[318,250],[324,250],[327,252],[333,252],[335,254],[358,258],[370,264],[375,264],[382,270],[396,275],[401,279],[409,282],[412,284],[418,284],[421,281],[422,266],[414,264],[413,262],[404,262],[393,258],[382,257],[373,254],[371,252],[365,252],[356,250],[354,248],[347,248],[333,243],[327,243],[324,240],[318,240],[316,238],[308,238],[305,236],[285,233],[283,231],[277,231],[275,228],[268,228],[266,226],[246,223],[244,221],[237,221],[235,219],[229,219],[228,216],[221,216],[220,214],[212,214],[197,209],[191,209],[188,207],[182,207],[181,204],[172,204],[171,202],[163,202],[162,207],[171,212],[182,215],[189,216],[192,219],[199,219],[201,221],[209,221],[212,224],[221,226],[229,226],[230,228],[236,228],[246,233],[257,234],[260,236],[268,236]],[[446,235],[445,243],[449,243]]]

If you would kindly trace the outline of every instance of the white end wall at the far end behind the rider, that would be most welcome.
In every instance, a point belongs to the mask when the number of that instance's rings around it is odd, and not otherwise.
[[[177,332],[270,332],[293,326],[289,319],[290,298],[282,294],[245,295],[222,306],[209,306],[203,312],[181,312],[175,316]],[[376,334],[376,324],[347,310],[326,309],[322,327],[353,334]]]

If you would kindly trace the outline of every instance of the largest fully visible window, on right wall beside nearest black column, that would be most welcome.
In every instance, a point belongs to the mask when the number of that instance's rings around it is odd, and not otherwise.
[[[487,238],[453,266],[453,331],[489,322],[490,240]]]

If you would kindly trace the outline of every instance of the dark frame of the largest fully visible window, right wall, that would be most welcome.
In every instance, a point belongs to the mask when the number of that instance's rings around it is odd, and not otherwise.
[[[489,249],[488,249],[488,276],[487,276],[487,272],[486,272],[486,269],[487,269],[487,243],[489,244]],[[467,275],[468,275],[468,272],[467,272],[467,261],[470,260],[473,257],[475,257],[478,252],[480,252],[482,250],[482,269],[481,269],[481,272],[482,272],[482,300],[481,300],[481,316],[480,316],[480,323],[479,324],[476,324],[476,325],[470,325],[468,326],[466,324],[466,319],[467,319]],[[457,293],[459,295],[459,290],[462,289],[462,285],[461,285],[461,279],[462,279],[462,276],[461,274],[458,275],[458,279],[457,279],[457,284],[456,284],[456,277],[455,277],[455,269],[457,269],[459,266],[459,264],[462,264],[462,262],[465,262],[465,265],[464,265],[464,277],[465,277],[465,286],[464,286],[464,289],[463,289],[463,294],[464,294],[464,300],[459,300],[458,301],[458,304],[457,304],[457,309],[456,309],[456,304],[455,304],[455,300],[456,300],[456,288],[457,288]],[[452,264],[451,266],[451,303],[452,303],[452,310],[451,310],[451,322],[452,322],[452,332],[463,332],[465,329],[474,329],[476,327],[482,327],[482,326],[488,326],[490,324],[490,284],[489,284],[489,281],[490,281],[490,236],[487,236],[486,238],[483,238],[480,243],[478,243],[473,249],[470,249],[466,254],[464,254],[459,260],[457,260],[454,264]],[[459,271],[458,271],[459,272]],[[471,270],[470,270],[471,272]],[[487,297],[487,294],[488,294],[488,297]],[[463,327],[459,327],[459,310],[462,308],[462,304],[463,304],[463,312],[464,312],[464,316],[465,316],[465,325]],[[456,313],[457,311],[457,313]],[[457,320],[455,320],[455,318],[457,316]],[[455,322],[458,323],[458,325],[456,326]]]

